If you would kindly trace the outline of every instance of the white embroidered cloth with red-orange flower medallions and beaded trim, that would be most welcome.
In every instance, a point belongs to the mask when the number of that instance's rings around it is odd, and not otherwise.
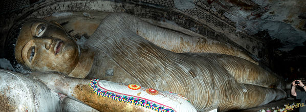
[[[91,80],[89,85],[99,96],[155,111],[196,111],[186,98],[171,92],[145,88],[137,84],[127,85],[99,79]]]

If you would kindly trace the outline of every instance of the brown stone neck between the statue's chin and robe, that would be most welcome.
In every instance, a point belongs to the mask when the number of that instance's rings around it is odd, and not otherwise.
[[[85,78],[92,68],[95,52],[90,49],[80,49],[80,53],[78,64],[68,75],[69,77]]]

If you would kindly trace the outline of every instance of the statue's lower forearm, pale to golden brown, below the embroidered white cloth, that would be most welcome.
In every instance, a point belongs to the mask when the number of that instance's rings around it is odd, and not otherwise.
[[[99,111],[151,111],[141,106],[97,95],[88,85],[90,80],[67,78],[57,73],[31,73],[29,77],[45,83],[52,91],[67,95]]]

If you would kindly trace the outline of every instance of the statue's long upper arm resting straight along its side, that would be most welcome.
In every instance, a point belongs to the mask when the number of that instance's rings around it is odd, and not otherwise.
[[[157,46],[176,53],[219,53],[244,58],[258,64],[243,50],[209,38],[192,37],[179,32],[163,29],[125,13],[108,16],[120,17],[121,25]],[[111,17],[113,18],[113,17]]]

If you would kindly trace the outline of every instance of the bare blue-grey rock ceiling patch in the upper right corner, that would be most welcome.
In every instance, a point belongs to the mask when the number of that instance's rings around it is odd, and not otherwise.
[[[273,39],[279,39],[283,51],[302,46],[306,40],[306,3],[304,1],[215,1],[216,11],[224,12],[235,23],[237,31],[254,35],[268,31]]]

